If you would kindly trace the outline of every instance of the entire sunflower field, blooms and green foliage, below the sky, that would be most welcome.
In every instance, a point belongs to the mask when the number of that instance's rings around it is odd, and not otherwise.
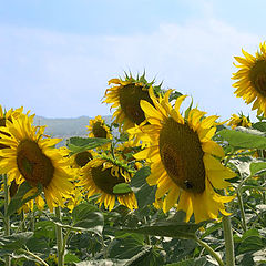
[[[235,60],[256,121],[145,73],[111,79],[112,123],[63,145],[0,105],[0,265],[266,265],[266,44]]]

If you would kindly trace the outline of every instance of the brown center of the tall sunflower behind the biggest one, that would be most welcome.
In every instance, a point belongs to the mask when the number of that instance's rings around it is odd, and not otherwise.
[[[135,124],[141,124],[145,120],[140,102],[145,100],[153,104],[147,90],[141,85],[127,84],[120,89],[120,105],[126,117]]]

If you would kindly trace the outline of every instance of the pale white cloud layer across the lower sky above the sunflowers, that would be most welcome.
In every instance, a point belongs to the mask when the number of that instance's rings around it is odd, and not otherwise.
[[[0,27],[1,102],[45,116],[109,114],[108,80],[146,70],[147,78],[190,94],[227,117],[248,112],[232,88],[233,55],[255,51],[259,37],[215,19],[162,23],[150,34],[78,35]]]

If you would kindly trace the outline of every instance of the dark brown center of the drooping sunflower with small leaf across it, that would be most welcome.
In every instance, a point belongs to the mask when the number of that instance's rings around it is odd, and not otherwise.
[[[102,171],[102,165],[91,168],[92,180],[94,181],[95,185],[104,193],[110,195],[116,195],[115,193],[113,193],[113,188],[117,184],[125,183],[124,177],[113,176],[111,174],[111,168],[105,168],[104,171]]]

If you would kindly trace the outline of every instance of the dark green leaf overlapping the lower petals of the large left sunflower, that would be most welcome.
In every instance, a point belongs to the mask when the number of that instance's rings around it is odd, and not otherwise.
[[[39,183],[38,191],[33,195],[24,198],[24,195],[32,188],[33,187],[28,182],[23,182],[19,186],[18,192],[14,194],[14,196],[11,198],[9,203],[8,212],[7,212],[8,216],[14,214],[20,207],[23,206],[23,204],[35,198],[42,192],[42,185]]]

